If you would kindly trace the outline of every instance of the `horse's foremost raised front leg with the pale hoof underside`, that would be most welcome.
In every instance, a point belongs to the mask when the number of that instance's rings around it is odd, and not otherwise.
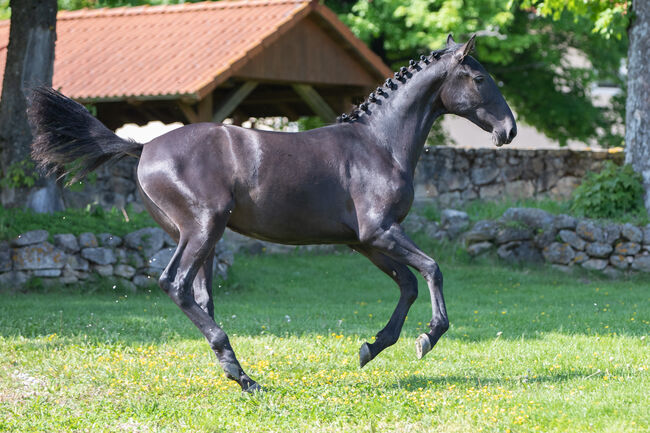
[[[367,243],[380,250],[387,256],[418,270],[427,281],[431,293],[433,315],[429,322],[430,331],[420,335],[416,340],[418,358],[426,355],[438,342],[442,334],[449,329],[447,308],[442,295],[442,272],[431,257],[420,250],[404,233],[399,224],[394,223],[388,230],[378,230],[373,233]]]

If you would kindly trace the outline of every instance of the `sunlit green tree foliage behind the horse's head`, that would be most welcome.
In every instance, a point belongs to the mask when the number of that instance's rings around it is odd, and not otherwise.
[[[613,131],[623,124],[624,107],[595,107],[590,89],[603,81],[623,87],[618,70],[627,40],[603,38],[582,16],[535,15],[529,3],[326,1],[393,68],[444,46],[448,33],[458,41],[478,33],[476,57],[493,74],[520,120],[562,144],[598,139],[601,145],[621,145],[622,135]],[[571,49],[583,53],[590,64],[568,64]]]

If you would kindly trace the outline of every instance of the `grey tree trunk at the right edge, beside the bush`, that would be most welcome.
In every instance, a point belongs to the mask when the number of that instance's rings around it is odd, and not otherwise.
[[[643,176],[650,215],[650,1],[634,0],[628,36],[625,163]]]

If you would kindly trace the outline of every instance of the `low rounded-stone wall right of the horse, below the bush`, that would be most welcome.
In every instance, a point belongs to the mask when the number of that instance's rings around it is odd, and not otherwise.
[[[581,267],[611,277],[650,272],[650,224],[639,227],[510,208],[495,221],[478,221],[471,227],[465,212],[452,209],[442,211],[440,222],[409,215],[404,227],[462,242],[471,256],[493,253],[509,263],[546,262],[564,271]]]

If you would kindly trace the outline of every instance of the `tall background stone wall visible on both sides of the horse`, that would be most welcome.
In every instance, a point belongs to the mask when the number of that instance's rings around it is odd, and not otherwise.
[[[606,160],[623,162],[623,153],[607,151],[425,148],[415,175],[417,201],[456,206],[469,200],[550,197],[566,199],[588,171],[599,171]],[[106,209],[132,204],[143,210],[136,191],[137,160],[125,158],[101,167],[83,188],[66,189],[68,207],[96,203]]]

